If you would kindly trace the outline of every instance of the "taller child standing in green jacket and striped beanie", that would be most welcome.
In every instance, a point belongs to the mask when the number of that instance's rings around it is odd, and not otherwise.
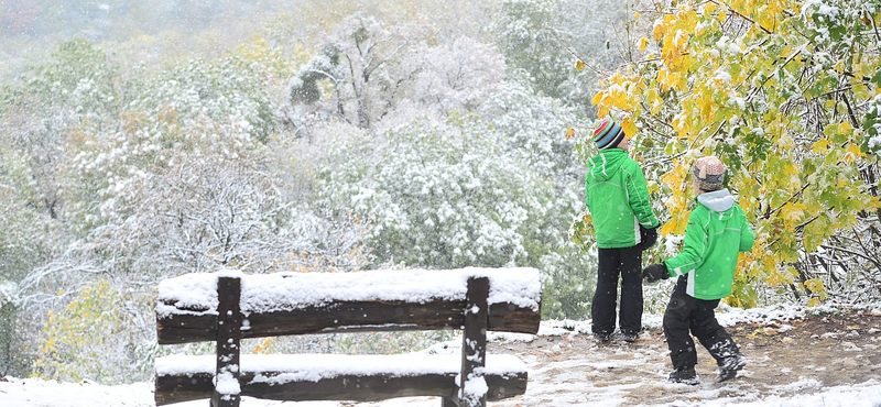
[[[642,251],[657,241],[645,175],[628,156],[628,138],[612,120],[594,131],[599,154],[588,162],[587,209],[594,218],[599,270],[590,312],[594,337],[609,341],[614,332],[618,279],[621,278],[621,336],[637,340],[642,330]]]

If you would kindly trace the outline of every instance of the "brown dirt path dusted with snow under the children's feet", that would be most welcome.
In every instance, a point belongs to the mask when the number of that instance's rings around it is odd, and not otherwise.
[[[749,363],[733,381],[717,384],[715,361],[698,346],[698,386],[666,383],[671,365],[661,329],[643,331],[635,343],[599,345],[586,333],[491,342],[490,354],[518,354],[530,367],[526,394],[493,406],[725,405],[881,381],[879,315],[806,317],[727,329]]]

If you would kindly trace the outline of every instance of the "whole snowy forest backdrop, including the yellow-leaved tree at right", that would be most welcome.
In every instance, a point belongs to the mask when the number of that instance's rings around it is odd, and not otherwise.
[[[587,319],[606,117],[664,223],[645,262],[716,154],[757,234],[727,302],[878,300],[879,25],[881,0],[0,2],[0,376],[149,380],[157,282],[221,267],[532,266],[543,318]]]

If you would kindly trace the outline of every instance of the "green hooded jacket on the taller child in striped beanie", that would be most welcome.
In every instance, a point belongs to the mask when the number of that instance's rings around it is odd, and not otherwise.
[[[621,148],[602,150],[588,161],[587,209],[594,218],[597,246],[631,248],[640,242],[640,226],[657,228],[645,176]]]

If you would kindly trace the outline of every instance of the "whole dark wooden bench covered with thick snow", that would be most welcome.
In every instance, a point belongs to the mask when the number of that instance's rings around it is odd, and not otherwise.
[[[157,359],[155,400],[435,396],[444,407],[486,406],[527,382],[516,356],[486,354],[487,331],[534,334],[540,308],[534,268],[187,274],[160,283],[159,343],[214,341],[217,352]],[[463,330],[461,354],[240,354],[243,338],[438,329]]]

